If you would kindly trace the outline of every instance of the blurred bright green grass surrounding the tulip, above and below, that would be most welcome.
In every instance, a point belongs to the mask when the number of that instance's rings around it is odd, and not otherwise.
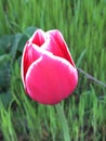
[[[0,18],[0,37],[28,26],[59,29],[77,67],[106,84],[106,0],[1,0]],[[10,92],[8,106],[0,101],[0,141],[106,140],[106,87],[81,72],[69,99],[45,106],[25,94],[15,61]]]

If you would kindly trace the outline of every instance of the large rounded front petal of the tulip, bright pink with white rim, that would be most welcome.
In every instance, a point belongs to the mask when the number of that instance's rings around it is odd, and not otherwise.
[[[42,104],[56,104],[67,98],[77,81],[77,69],[68,61],[48,52],[29,66],[25,78],[28,94]]]

